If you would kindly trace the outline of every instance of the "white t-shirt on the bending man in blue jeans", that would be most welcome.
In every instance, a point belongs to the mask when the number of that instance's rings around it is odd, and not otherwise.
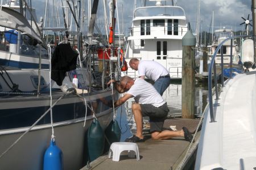
[[[138,66],[139,77],[146,76],[150,80],[156,81],[160,76],[166,76],[168,71],[163,65],[156,61],[142,60]]]

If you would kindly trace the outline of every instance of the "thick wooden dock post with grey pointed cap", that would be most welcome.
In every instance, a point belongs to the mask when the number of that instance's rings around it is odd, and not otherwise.
[[[195,45],[196,38],[190,30],[182,39],[182,118],[193,119],[195,115]]]

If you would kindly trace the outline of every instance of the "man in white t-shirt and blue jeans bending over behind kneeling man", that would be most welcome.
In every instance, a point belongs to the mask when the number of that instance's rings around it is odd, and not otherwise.
[[[163,96],[164,91],[171,83],[170,74],[163,65],[156,61],[142,60],[132,58],[129,62],[132,69],[139,72],[140,78],[149,78],[154,81],[154,87],[158,93]]]

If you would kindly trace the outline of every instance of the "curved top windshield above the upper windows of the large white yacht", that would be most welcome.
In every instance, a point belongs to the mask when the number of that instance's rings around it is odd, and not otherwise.
[[[150,6],[134,11],[134,18],[140,16],[185,16],[185,12],[178,6]]]

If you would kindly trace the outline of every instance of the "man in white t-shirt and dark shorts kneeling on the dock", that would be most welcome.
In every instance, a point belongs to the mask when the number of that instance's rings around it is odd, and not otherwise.
[[[180,131],[163,130],[164,120],[169,112],[166,102],[160,96],[156,89],[142,78],[133,78],[124,76],[118,83],[115,80],[110,80],[114,83],[115,89],[119,93],[126,94],[114,102],[114,106],[122,105],[127,99],[134,97],[135,103],[131,105],[137,132],[131,138],[127,138],[125,142],[144,142],[142,135],[142,120],[144,116],[150,118],[151,138],[155,140],[170,139],[175,136],[183,136],[185,140],[191,142],[193,136],[187,128],[183,127]]]

